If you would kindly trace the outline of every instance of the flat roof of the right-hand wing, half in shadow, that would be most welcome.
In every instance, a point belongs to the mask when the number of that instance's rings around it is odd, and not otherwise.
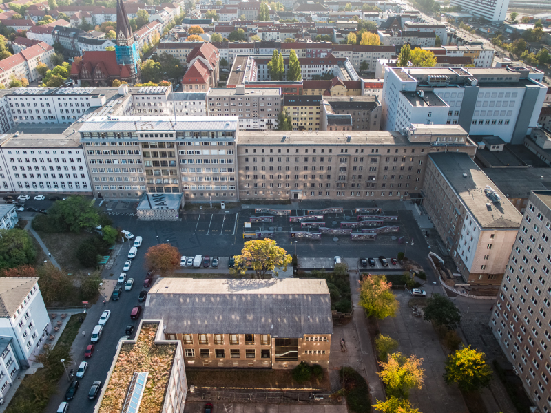
[[[519,228],[521,213],[466,153],[430,153],[429,157],[481,228]],[[486,196],[484,188],[487,185],[501,196],[501,203],[492,203]]]

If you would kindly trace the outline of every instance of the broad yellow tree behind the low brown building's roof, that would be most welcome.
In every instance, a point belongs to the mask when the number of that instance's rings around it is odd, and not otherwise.
[[[247,268],[252,267],[256,278],[265,278],[268,271],[285,269],[291,263],[291,255],[268,238],[245,242],[241,254],[234,258],[236,264],[229,270],[231,275],[245,275]],[[277,276],[278,272],[273,275]]]

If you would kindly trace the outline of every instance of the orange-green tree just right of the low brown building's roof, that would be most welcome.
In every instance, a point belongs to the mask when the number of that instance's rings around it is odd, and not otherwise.
[[[360,281],[360,306],[368,317],[396,317],[399,304],[385,275],[368,275]]]

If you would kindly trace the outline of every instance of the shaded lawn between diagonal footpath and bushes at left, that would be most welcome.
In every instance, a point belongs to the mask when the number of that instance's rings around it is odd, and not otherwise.
[[[50,253],[56,259],[58,264],[68,273],[76,273],[79,270],[90,270],[85,268],[76,258],[76,248],[79,247],[83,240],[92,238],[95,235],[92,233],[45,233],[37,231],[42,242],[48,248]]]

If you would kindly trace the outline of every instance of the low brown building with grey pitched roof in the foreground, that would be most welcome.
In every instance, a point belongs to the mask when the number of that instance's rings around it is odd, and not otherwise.
[[[291,306],[293,317],[285,317]],[[323,280],[160,278],[144,317],[163,318],[165,337],[182,343],[186,368],[280,369],[301,361],[329,368],[333,321]]]

